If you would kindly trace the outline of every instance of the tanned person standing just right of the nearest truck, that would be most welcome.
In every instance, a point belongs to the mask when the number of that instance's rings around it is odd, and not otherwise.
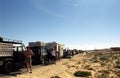
[[[29,73],[32,73],[32,56],[34,55],[34,53],[29,47],[26,47],[26,51],[24,55],[25,55],[25,63],[27,67],[27,72],[29,70]]]

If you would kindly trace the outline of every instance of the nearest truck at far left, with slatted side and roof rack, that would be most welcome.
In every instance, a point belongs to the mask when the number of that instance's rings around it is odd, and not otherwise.
[[[0,37],[0,68],[10,73],[24,66],[24,50],[22,41]]]

